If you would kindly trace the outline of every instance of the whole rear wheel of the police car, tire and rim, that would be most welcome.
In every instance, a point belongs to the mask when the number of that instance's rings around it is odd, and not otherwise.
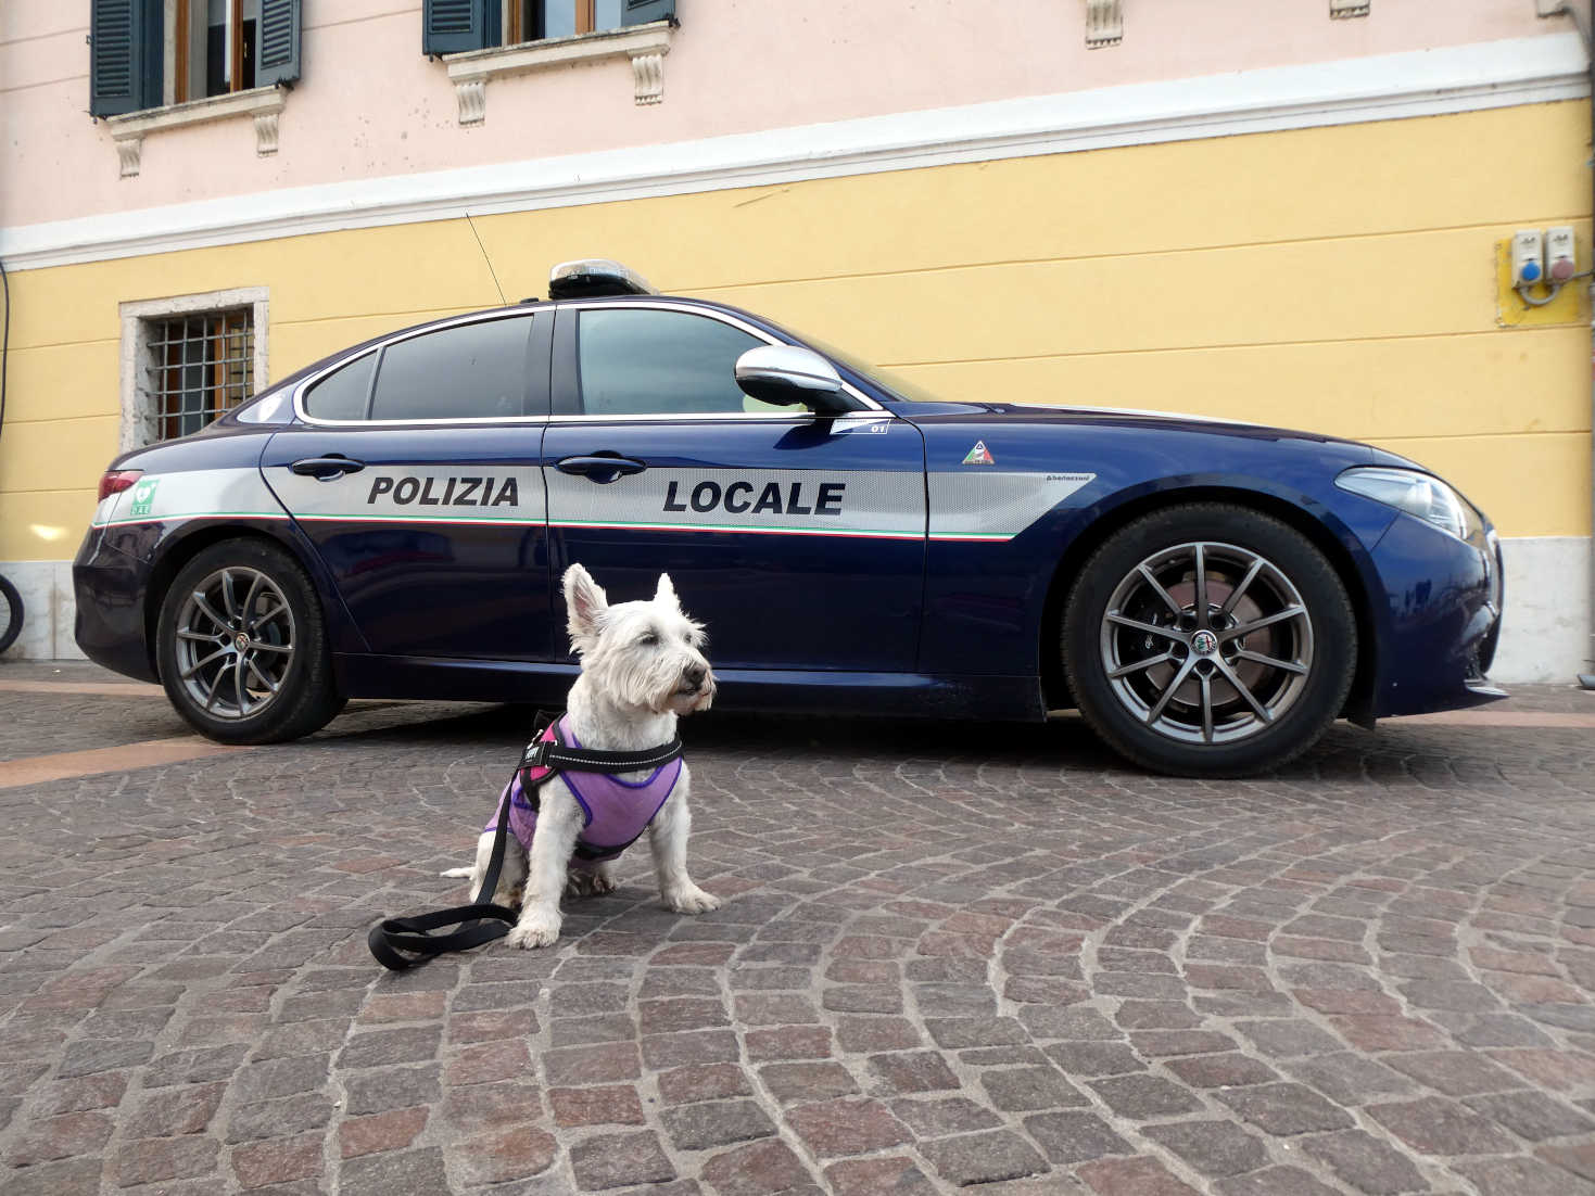
[[[327,726],[345,698],[321,603],[282,549],[212,544],[172,580],[156,667],[177,713],[219,743],[281,743]]]

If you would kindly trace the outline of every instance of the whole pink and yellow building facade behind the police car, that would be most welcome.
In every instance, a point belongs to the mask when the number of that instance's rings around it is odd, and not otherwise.
[[[120,448],[612,257],[947,397],[1415,458],[1504,537],[1495,676],[1569,679],[1589,292],[1507,277],[1517,230],[1571,226],[1590,268],[1589,56],[1555,6],[8,0],[13,654],[77,654]]]

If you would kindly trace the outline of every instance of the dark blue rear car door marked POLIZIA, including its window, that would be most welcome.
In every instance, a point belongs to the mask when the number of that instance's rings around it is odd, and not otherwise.
[[[372,652],[549,660],[553,316],[424,329],[308,380],[262,469]]]

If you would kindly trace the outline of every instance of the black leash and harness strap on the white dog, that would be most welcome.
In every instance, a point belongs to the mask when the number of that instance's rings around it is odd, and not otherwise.
[[[568,748],[558,738],[560,714],[538,711],[533,740],[520,756],[510,785],[504,786],[504,799],[499,802],[498,828],[493,832],[493,856],[488,860],[486,875],[477,899],[469,906],[450,906],[434,909],[431,914],[413,914],[402,919],[383,919],[372,933],[365,936],[365,946],[372,949],[376,962],[391,971],[404,971],[418,963],[426,963],[434,955],[451,950],[471,950],[483,942],[501,939],[514,928],[520,914],[509,906],[493,901],[498,891],[499,872],[504,869],[504,842],[509,834],[509,805],[514,793],[514,780],[520,777],[522,791],[538,807],[538,789],[549,783],[558,772],[636,772],[668,764],[681,754],[681,737],[657,748],[641,751],[589,751],[587,748]],[[544,732],[553,726],[553,738],[544,738]],[[531,769],[547,769],[542,777],[528,780]],[[447,934],[434,934],[445,927],[459,927]]]

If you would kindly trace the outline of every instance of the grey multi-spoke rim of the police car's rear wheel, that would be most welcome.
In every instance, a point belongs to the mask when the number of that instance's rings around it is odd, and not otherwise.
[[[177,678],[206,714],[247,719],[271,705],[293,665],[293,611],[260,569],[203,579],[177,612]]]

